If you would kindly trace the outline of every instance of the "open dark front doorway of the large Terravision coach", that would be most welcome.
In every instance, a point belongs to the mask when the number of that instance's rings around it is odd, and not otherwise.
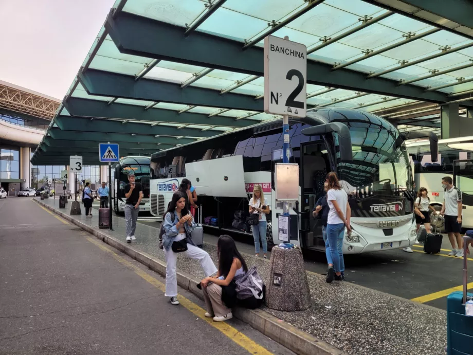
[[[322,220],[314,218],[312,211],[316,202],[323,197],[323,184],[331,171],[328,153],[323,140],[301,145],[300,187],[301,187],[301,238],[303,246],[325,250],[322,238]]]

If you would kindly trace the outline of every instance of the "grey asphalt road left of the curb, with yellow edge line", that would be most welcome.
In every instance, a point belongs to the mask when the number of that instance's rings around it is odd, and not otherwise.
[[[1,354],[292,354],[237,319],[215,328],[182,289],[193,306],[172,306],[156,273],[30,198],[0,200],[0,243]]]

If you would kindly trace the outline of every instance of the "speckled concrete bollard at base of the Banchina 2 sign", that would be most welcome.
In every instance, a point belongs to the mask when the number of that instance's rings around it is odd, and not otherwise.
[[[300,248],[272,249],[265,303],[271,309],[286,312],[311,307],[311,293]]]

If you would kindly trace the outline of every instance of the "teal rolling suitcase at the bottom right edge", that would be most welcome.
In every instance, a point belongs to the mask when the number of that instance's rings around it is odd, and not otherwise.
[[[473,355],[473,315],[465,314],[466,301],[471,302],[473,293],[467,293],[467,241],[463,237],[463,292],[455,291],[447,297],[447,354]]]

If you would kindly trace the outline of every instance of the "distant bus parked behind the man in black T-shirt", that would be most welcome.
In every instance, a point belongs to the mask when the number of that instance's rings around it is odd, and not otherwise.
[[[128,174],[135,174],[135,181],[143,188],[143,198],[140,202],[140,212],[150,211],[150,162],[149,156],[125,156],[113,169],[111,187],[113,208],[117,215],[124,214],[125,185],[128,184]]]

